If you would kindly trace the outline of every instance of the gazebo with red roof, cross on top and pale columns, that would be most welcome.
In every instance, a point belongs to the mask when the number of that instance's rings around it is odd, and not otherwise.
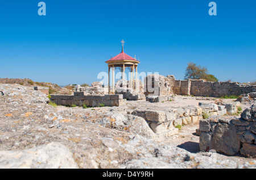
[[[131,72],[131,88],[133,90],[137,90],[138,89],[138,85],[137,83],[137,66],[140,63],[138,60],[136,60],[135,58],[126,55],[125,52],[123,52],[123,44],[125,43],[125,41],[121,41],[122,43],[122,52],[119,53],[119,55],[110,58],[110,60],[106,61],[106,63],[109,66],[109,94],[114,94],[115,93],[115,88],[114,88],[114,84],[115,84],[115,68],[121,68],[121,72],[122,72],[122,79],[125,80],[125,69],[129,68],[130,72]],[[112,68],[112,92],[110,92],[110,69]],[[134,78],[134,70],[136,71],[135,73],[135,78]]]

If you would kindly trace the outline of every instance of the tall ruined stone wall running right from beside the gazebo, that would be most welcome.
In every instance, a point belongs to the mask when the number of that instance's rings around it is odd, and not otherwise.
[[[148,95],[195,95],[203,97],[222,97],[225,95],[241,95],[256,92],[256,85],[244,85],[238,82],[209,82],[204,79],[176,80],[151,74],[144,80],[144,93]]]

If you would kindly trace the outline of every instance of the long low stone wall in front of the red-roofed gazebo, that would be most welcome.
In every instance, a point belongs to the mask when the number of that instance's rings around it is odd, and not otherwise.
[[[51,101],[63,106],[122,106],[126,104],[122,94],[84,95],[84,92],[74,92],[74,95],[51,95]]]

